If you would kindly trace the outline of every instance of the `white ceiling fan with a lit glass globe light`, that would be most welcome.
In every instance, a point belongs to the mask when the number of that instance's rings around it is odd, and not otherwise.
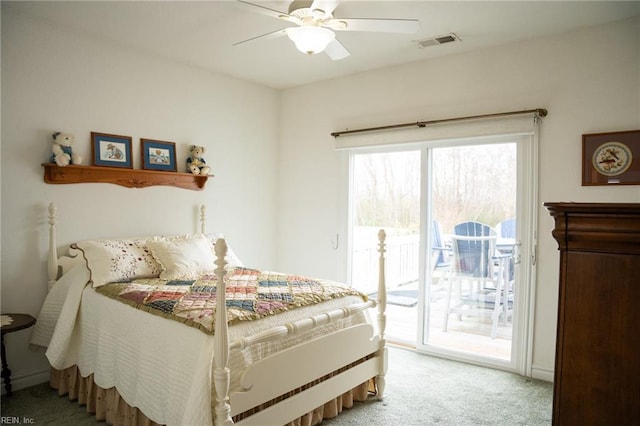
[[[308,55],[324,51],[334,61],[350,55],[347,48],[336,39],[334,31],[413,34],[420,28],[416,19],[335,18],[333,11],[338,6],[337,0],[295,0],[289,5],[287,13],[243,0],[237,0],[237,3],[254,12],[297,26],[252,37],[234,43],[234,46],[256,39],[287,35],[299,51]]]

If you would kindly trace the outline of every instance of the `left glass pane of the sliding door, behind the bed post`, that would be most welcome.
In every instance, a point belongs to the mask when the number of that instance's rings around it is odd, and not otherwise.
[[[377,233],[384,228],[388,289],[417,289],[420,151],[357,154],[353,178],[351,283],[369,294],[377,290]]]

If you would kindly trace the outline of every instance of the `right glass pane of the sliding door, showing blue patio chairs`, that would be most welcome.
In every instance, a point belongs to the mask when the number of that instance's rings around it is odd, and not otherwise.
[[[517,144],[466,141],[427,149],[424,167],[424,351],[511,365]]]

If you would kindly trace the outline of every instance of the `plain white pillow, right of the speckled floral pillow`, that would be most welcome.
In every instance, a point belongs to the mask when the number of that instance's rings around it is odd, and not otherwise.
[[[216,268],[211,243],[204,235],[158,237],[147,241],[147,246],[160,264],[164,280],[194,279]]]

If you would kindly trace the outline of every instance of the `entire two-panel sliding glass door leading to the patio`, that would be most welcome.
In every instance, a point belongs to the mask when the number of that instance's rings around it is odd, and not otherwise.
[[[531,136],[352,151],[351,283],[376,297],[387,231],[387,336],[420,351],[524,371],[535,147]]]

